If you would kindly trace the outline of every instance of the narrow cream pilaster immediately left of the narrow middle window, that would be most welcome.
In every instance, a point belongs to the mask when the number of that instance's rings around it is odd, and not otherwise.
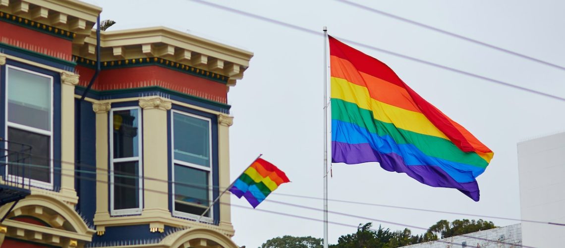
[[[108,111],[110,103],[93,103],[96,113],[96,213],[98,216],[108,215]]]

